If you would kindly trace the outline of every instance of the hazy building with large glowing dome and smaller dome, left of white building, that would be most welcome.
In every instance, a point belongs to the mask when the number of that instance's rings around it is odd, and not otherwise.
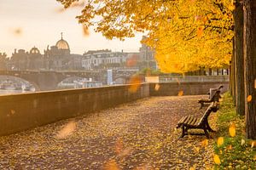
[[[15,53],[8,60],[9,70],[50,70],[73,71],[82,69],[81,54],[70,54],[69,44],[63,39],[58,40],[54,46],[47,46],[41,54],[35,46],[30,50],[15,49]],[[1,65],[0,65],[1,66]]]

